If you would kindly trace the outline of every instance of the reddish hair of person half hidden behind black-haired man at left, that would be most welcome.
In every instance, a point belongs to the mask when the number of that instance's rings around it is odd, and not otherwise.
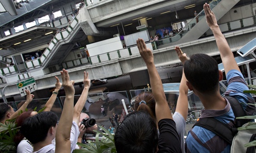
[[[31,113],[32,111],[25,111],[21,115],[19,115],[16,118],[17,127],[21,126],[23,121],[31,116]],[[17,134],[14,136],[14,142],[16,143],[16,145],[18,145],[23,138],[24,138],[24,135],[21,133],[21,131],[18,131]]]

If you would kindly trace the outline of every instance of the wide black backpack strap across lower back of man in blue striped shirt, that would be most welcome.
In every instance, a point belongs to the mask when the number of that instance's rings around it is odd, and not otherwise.
[[[238,132],[236,127],[229,127],[227,124],[221,123],[221,121],[214,118],[200,118],[194,126],[201,126],[214,132],[229,144],[232,144],[233,138]]]

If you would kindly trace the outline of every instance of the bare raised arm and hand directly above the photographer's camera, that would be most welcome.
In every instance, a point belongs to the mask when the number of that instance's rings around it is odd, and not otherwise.
[[[79,123],[80,114],[82,112],[83,106],[85,106],[85,102],[88,96],[88,91],[90,86],[91,86],[91,80],[89,79],[88,72],[83,72],[83,91],[75,105],[74,114],[73,114],[73,121],[75,121],[77,125]]]

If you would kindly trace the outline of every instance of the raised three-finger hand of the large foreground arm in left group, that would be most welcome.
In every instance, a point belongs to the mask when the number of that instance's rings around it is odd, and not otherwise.
[[[68,95],[75,95],[75,88],[74,88],[74,83],[75,81],[70,80],[70,75],[68,75],[67,70],[62,69],[61,71],[61,79],[62,79],[62,86],[65,90],[66,96]]]

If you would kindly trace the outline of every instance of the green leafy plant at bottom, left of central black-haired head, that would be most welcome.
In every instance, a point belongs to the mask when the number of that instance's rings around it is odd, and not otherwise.
[[[77,145],[83,147],[83,149],[76,149],[73,152],[116,152],[116,146],[114,141],[114,135],[112,135],[108,130],[104,127],[99,126],[102,130],[106,133],[101,131],[96,132],[96,139],[95,141],[87,141],[87,144],[77,143]],[[100,136],[102,135],[101,139]]]

